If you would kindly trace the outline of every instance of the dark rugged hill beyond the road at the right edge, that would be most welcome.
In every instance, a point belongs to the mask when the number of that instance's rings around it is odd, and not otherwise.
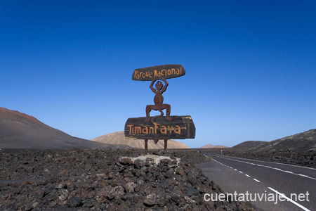
[[[248,151],[280,151],[295,150],[306,151],[316,148],[316,129],[310,129],[306,132],[287,136],[274,141],[245,141],[232,148]]]

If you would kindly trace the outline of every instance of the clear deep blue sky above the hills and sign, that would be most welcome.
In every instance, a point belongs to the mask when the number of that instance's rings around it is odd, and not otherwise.
[[[187,146],[316,128],[316,1],[0,1],[0,106],[72,136],[145,116],[131,75],[164,64],[186,70],[164,103],[192,116]]]

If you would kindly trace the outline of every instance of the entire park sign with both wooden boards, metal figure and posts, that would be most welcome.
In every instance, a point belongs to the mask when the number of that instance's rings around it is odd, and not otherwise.
[[[146,153],[148,139],[154,139],[154,143],[164,139],[164,153],[168,139],[195,139],[195,124],[192,117],[171,116],[171,106],[164,103],[162,96],[169,84],[166,79],[183,75],[185,68],[182,65],[159,65],[134,70],[132,75],[134,81],[151,81],[150,89],[154,93],[154,105],[146,106],[146,117],[129,118],[126,121],[125,139],[144,139]],[[159,111],[160,115],[150,117],[151,110]],[[165,117],[163,110],[166,110]]]

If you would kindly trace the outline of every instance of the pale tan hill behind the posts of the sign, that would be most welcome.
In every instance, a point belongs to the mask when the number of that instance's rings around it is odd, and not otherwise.
[[[98,141],[100,143],[107,144],[126,144],[135,148],[145,148],[145,141],[143,139],[125,139],[124,132],[113,132],[110,134],[105,134],[103,136],[98,136],[92,141]],[[158,149],[164,148],[164,141],[159,140],[157,144],[153,140],[148,140],[148,149]],[[180,141],[168,140],[168,148],[190,148]]]

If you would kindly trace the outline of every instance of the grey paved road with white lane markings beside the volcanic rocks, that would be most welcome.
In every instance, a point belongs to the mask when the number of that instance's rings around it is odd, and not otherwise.
[[[197,167],[225,192],[236,192],[235,196],[245,200],[249,193],[257,210],[316,210],[316,169],[215,154],[211,157],[211,162]],[[287,198],[280,196],[282,193]]]

